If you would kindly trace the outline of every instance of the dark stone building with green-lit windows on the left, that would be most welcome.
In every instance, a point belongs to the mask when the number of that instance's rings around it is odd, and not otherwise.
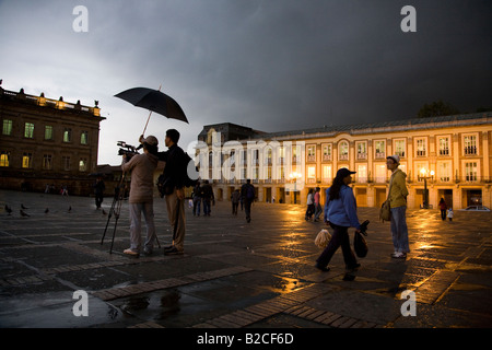
[[[0,187],[91,194],[104,119],[97,102],[89,107],[0,86]]]

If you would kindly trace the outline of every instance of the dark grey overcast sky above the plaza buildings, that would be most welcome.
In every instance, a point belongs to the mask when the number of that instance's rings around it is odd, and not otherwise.
[[[87,9],[87,32],[77,5]],[[403,33],[405,5],[417,32]],[[149,113],[115,94],[175,98],[189,125],[152,115],[145,135],[183,148],[204,125],[262,131],[414,117],[443,100],[492,108],[492,1],[0,0],[2,88],[93,106],[99,164],[138,144]]]

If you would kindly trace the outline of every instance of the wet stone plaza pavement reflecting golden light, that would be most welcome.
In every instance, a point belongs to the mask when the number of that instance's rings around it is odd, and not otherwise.
[[[492,326],[492,213],[457,211],[449,222],[437,210],[410,210],[411,253],[396,260],[389,223],[378,222],[377,209],[359,208],[361,221],[371,220],[370,250],[347,281],[340,249],[329,272],[314,268],[314,238],[326,226],[306,222],[304,206],[255,203],[250,223],[229,202],[216,202],[211,217],[187,208],[184,255],[156,248],[131,258],[122,254],[127,202],[109,254],[112,202],[96,210],[93,198],[0,190],[1,328]],[[163,199],[154,210],[164,247],[172,232]],[[401,299],[407,290],[413,304]]]

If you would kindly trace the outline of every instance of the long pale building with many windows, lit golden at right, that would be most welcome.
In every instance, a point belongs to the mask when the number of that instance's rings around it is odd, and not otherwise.
[[[229,200],[250,178],[257,200],[305,205],[309,188],[331,185],[340,167],[355,171],[358,206],[379,207],[398,154],[407,173],[409,208],[492,207],[492,113],[414,118],[350,126],[261,132],[233,124],[204,126],[196,161],[213,182],[215,198]]]

